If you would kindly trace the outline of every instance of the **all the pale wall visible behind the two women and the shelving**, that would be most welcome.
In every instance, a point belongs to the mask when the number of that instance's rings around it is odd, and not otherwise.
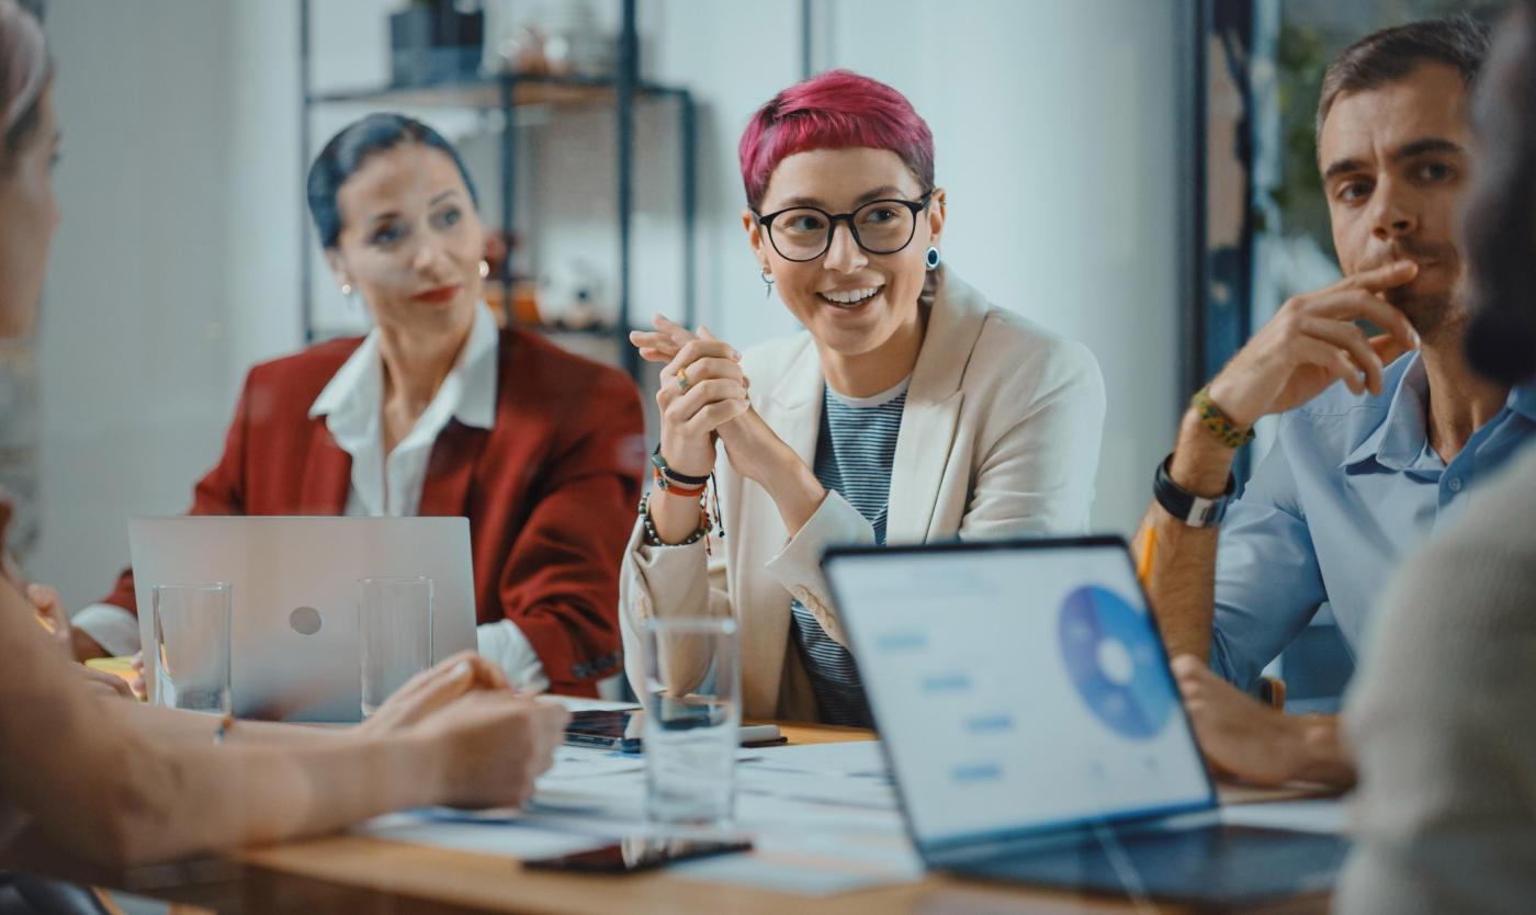
[[[80,605],[126,560],[127,514],[186,505],[246,368],[300,342],[298,20],[296,3],[278,0],[49,6],[66,221],[45,306],[45,531],[32,574]],[[381,80],[393,6],[319,0],[316,83]],[[1177,416],[1174,0],[816,8],[817,66],[892,83],[932,126],[948,263],[1098,355],[1109,422],[1095,522],[1129,530]],[[700,103],[700,318],[739,345],[785,333],[794,322],[763,298],[742,238],[736,140],[799,77],[799,3],[641,0],[641,28],[647,75],[691,86]],[[642,157],[654,157],[642,158],[642,186],[674,180],[667,117],[641,124]],[[475,123],[461,117],[453,132]],[[329,129],[316,123],[316,146]],[[591,127],[587,155],[602,158],[607,129]],[[527,203],[585,213],[541,255],[608,256],[611,170],[571,187],[581,160],[561,152],[567,138],[531,130],[524,147],[544,183]],[[648,238],[671,238],[665,198],[641,201]],[[668,249],[636,247],[642,315],[674,310]],[[316,287],[333,295],[324,276]]]

